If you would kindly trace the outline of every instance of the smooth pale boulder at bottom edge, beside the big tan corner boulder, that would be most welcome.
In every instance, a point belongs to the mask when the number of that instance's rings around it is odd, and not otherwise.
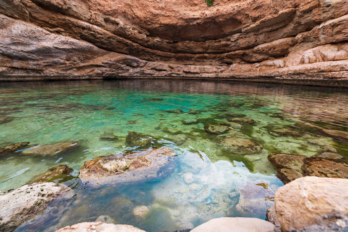
[[[274,225],[259,218],[250,217],[220,217],[211,219],[191,232],[271,232]]]

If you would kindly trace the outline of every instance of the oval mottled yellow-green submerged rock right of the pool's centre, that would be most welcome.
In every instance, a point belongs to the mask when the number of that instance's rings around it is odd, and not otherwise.
[[[224,138],[221,145],[222,148],[234,154],[259,153],[263,149],[261,145],[247,138]]]

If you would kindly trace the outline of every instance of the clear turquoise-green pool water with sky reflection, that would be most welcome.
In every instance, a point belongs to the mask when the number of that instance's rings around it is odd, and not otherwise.
[[[178,154],[171,163],[172,172],[160,179],[98,189],[83,186],[78,178],[70,180],[65,184],[74,187],[72,200],[60,205],[52,202],[17,231],[54,231],[100,215],[147,231],[192,228],[221,216],[264,218],[274,192],[282,186],[267,160],[269,153],[313,156],[329,146],[348,159],[345,141],[304,124],[347,131],[348,91],[342,89],[160,80],[3,83],[0,101],[0,116],[14,118],[0,124],[0,146],[22,141],[44,145],[76,140],[81,144],[66,155],[0,159],[3,191],[20,187],[57,165],[68,165],[77,176],[82,164],[95,157],[139,150],[127,145],[129,131],[149,135],[156,139],[156,146],[170,147]],[[167,112],[177,109],[184,113]],[[190,110],[196,114],[187,113]],[[221,147],[220,135],[205,132],[204,124],[223,123],[227,113],[255,121],[241,124],[235,133],[258,142],[263,147],[259,153],[228,152]],[[183,124],[187,119],[198,123]],[[279,128],[300,135],[270,132]],[[119,139],[104,141],[103,134]],[[185,182],[187,175],[192,178]],[[260,183],[268,184],[268,189],[256,185]],[[258,194],[246,197],[254,192]],[[150,209],[144,219],[132,213],[140,205]]]

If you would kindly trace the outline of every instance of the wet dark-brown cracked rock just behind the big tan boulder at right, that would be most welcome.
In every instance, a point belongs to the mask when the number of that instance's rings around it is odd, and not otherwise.
[[[268,160],[284,184],[304,176],[348,178],[348,165],[339,161],[280,153],[269,154]]]

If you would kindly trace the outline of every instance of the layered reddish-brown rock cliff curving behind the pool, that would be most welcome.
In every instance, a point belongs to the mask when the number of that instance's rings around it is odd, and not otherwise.
[[[0,0],[0,80],[348,86],[345,0]]]

